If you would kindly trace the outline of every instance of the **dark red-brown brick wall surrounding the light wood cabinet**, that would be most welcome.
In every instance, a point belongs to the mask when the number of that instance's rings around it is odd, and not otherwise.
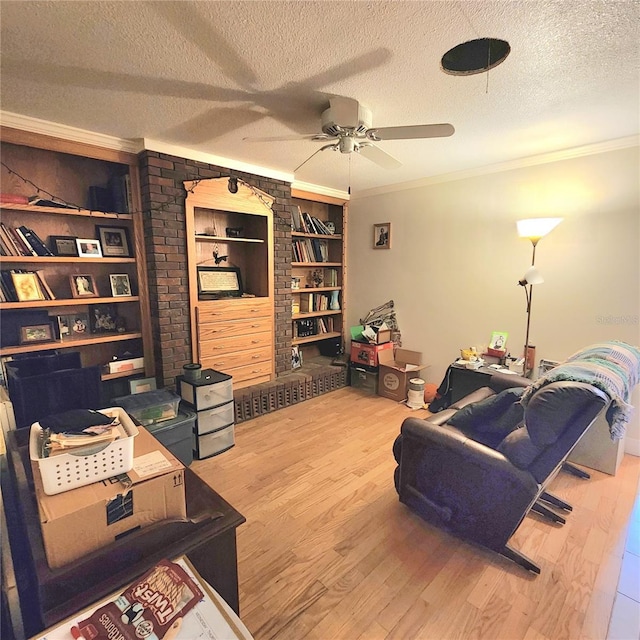
[[[154,151],[139,154],[156,374],[172,386],[191,362],[184,180],[230,174],[275,198],[276,374],[291,369],[291,185]]]

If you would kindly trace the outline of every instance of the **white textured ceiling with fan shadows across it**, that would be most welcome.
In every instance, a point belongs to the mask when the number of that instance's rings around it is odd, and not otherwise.
[[[298,181],[362,191],[636,135],[636,0],[25,2],[2,0],[3,111],[292,172],[331,95],[381,127],[450,138],[378,143],[403,166],[318,153]],[[453,46],[507,40],[489,74],[440,70]]]

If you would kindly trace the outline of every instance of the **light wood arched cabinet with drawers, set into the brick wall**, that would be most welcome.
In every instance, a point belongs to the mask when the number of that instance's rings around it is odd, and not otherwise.
[[[192,358],[241,388],[275,376],[273,198],[228,187],[185,183]]]

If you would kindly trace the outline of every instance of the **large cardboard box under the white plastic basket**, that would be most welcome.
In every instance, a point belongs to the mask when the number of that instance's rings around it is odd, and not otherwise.
[[[33,466],[47,561],[62,567],[139,527],[186,519],[184,466],[144,427],[134,439],[133,469],[126,488],[120,476],[48,496]]]

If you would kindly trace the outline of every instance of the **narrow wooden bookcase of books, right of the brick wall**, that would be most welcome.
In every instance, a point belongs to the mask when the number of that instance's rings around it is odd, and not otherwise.
[[[291,195],[297,208],[291,232],[293,345],[317,355],[314,346],[320,341],[344,340],[347,203],[296,189]]]

